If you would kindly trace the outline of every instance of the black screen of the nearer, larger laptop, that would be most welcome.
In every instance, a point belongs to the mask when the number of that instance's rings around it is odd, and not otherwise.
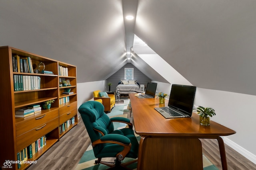
[[[192,115],[196,86],[172,84],[169,107]]]

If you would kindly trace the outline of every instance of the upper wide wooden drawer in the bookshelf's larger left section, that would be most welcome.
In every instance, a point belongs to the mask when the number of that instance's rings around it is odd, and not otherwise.
[[[16,136],[20,136],[23,133],[26,133],[27,131],[30,131],[31,129],[34,129],[38,125],[42,125],[56,117],[58,117],[58,109],[54,111],[47,112],[42,115],[38,115],[33,117],[33,119],[28,119],[26,121],[22,121],[18,124],[16,124]]]

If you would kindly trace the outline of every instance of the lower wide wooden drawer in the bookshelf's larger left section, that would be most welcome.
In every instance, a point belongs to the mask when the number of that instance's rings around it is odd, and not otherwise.
[[[42,125],[39,125],[38,127],[24,133],[23,135],[20,135],[16,138],[17,143],[17,150],[20,151],[30,145],[32,142],[36,141],[40,137],[46,135],[50,131],[52,131],[54,128],[59,126],[59,118],[52,119],[51,121],[48,121],[47,123],[43,123]],[[47,144],[47,143],[46,143]]]

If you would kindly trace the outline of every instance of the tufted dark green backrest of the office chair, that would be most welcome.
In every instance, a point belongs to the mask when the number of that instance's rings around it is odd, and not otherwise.
[[[100,102],[85,102],[78,108],[78,111],[82,117],[86,130],[92,142],[102,137],[102,135],[98,131],[95,131],[93,128],[101,127],[105,130],[105,134],[114,131],[114,125],[110,121],[108,115],[104,113],[104,106]],[[97,155],[104,147],[104,145],[105,144],[96,145],[96,147],[93,148],[94,154]]]

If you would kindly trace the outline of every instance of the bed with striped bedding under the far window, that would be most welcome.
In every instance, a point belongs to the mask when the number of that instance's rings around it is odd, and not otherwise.
[[[116,86],[117,96],[128,95],[130,93],[141,93],[140,84],[137,80],[120,80]]]

